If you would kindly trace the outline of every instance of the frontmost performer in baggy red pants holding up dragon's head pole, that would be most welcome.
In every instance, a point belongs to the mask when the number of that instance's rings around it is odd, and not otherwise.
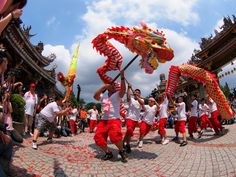
[[[102,102],[103,116],[97,125],[94,140],[96,144],[106,153],[103,160],[110,160],[113,158],[112,152],[108,149],[107,138],[109,136],[112,143],[119,149],[122,162],[127,162],[127,154],[123,149],[121,121],[120,121],[120,102],[125,94],[125,77],[124,71],[120,72],[121,88],[116,91],[114,84],[105,84],[99,88],[94,98]],[[108,90],[108,93],[103,91]]]

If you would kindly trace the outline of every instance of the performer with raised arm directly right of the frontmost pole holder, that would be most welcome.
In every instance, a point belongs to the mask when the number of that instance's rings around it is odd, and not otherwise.
[[[125,137],[123,139],[124,148],[127,153],[131,153],[131,147],[130,147],[130,140],[133,136],[133,132],[135,127],[138,125],[138,121],[140,118],[140,111],[142,109],[142,104],[144,104],[144,100],[142,98],[139,99],[141,91],[139,89],[134,90],[134,97],[131,97],[131,90],[132,86],[131,84],[128,84],[128,90],[127,90],[127,101],[129,103],[129,109],[126,116],[126,133]]]

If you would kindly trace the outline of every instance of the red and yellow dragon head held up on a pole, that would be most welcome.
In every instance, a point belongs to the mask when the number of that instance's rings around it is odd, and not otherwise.
[[[158,62],[165,63],[174,57],[174,51],[168,47],[163,32],[153,30],[141,23],[142,28],[133,27],[127,47],[142,56],[141,68],[151,74],[158,67]]]

